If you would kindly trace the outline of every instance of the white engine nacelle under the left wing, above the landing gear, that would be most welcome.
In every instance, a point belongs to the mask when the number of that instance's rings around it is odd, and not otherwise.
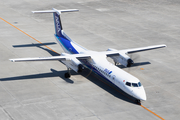
[[[66,53],[62,53],[62,56],[68,56]],[[84,66],[77,58],[71,58],[70,60],[62,60],[62,62],[68,67],[74,70],[75,72],[79,73],[82,72]]]

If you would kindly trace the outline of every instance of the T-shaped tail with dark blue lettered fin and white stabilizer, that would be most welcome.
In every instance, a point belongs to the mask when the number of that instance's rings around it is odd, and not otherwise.
[[[60,14],[64,13],[64,12],[76,12],[76,11],[79,11],[79,10],[78,9],[57,10],[57,9],[53,8],[52,10],[32,11],[32,12],[33,13],[53,13],[54,27],[55,27],[56,35],[58,37],[65,37],[68,40],[70,40],[70,38],[65,33],[63,33]]]

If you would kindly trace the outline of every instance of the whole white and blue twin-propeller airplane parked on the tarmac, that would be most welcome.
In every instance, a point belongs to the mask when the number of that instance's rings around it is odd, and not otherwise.
[[[141,101],[146,101],[146,93],[140,80],[126,71],[120,69],[116,64],[121,64],[124,67],[131,67],[134,61],[127,55],[136,52],[142,52],[147,50],[153,50],[166,47],[165,44],[154,45],[148,47],[140,47],[134,49],[116,50],[109,48],[107,51],[97,52],[88,50],[79,44],[71,40],[63,31],[60,15],[65,12],[75,12],[78,9],[67,9],[43,11],[32,11],[33,13],[53,13],[54,26],[55,26],[55,38],[60,44],[65,53],[61,53],[59,56],[50,57],[37,57],[37,58],[18,58],[10,59],[12,62],[22,61],[61,61],[67,67],[67,73],[64,74],[65,78],[70,78],[70,69],[80,73],[84,70],[84,67],[92,70],[105,80],[111,82],[125,93],[136,99],[137,104],[141,104]],[[110,57],[115,62],[115,65],[107,60]]]

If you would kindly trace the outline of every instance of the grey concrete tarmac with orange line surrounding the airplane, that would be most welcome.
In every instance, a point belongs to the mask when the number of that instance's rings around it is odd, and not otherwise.
[[[67,68],[59,61],[9,61],[63,52],[54,38],[52,14],[31,13],[52,8],[80,10],[62,14],[61,20],[65,33],[87,49],[168,46],[132,54],[136,64],[122,68],[143,84],[147,100],[142,105],[88,69],[71,71],[66,79]],[[1,0],[0,19],[1,120],[180,118],[178,0]]]

